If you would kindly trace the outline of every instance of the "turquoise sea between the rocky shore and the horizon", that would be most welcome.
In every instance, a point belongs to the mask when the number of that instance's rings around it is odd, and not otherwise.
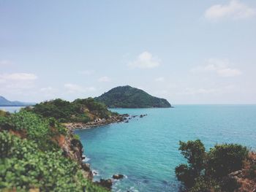
[[[178,141],[201,139],[240,143],[256,149],[256,105],[177,105],[169,109],[115,109],[148,114],[129,123],[78,130],[95,179],[113,174],[127,177],[113,191],[178,191],[174,169],[184,162]]]

